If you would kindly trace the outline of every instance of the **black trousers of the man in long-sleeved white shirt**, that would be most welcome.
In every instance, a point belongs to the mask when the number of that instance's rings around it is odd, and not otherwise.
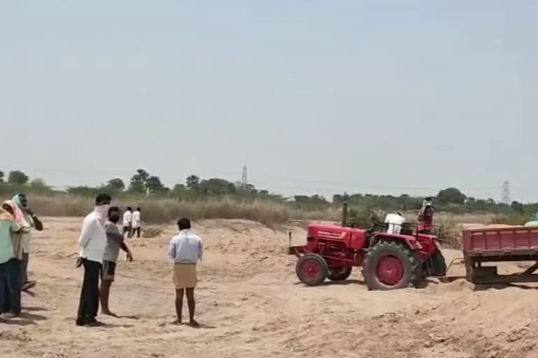
[[[77,323],[92,322],[99,310],[99,262],[83,259],[84,280],[81,289],[81,301],[78,303]]]

